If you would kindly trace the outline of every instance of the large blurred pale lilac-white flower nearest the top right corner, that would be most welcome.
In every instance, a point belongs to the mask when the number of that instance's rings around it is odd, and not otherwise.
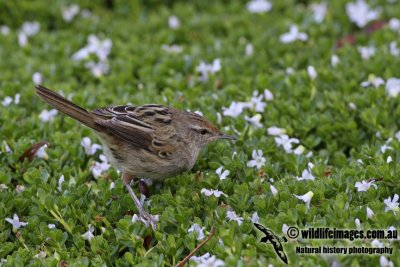
[[[346,13],[350,21],[354,22],[359,28],[362,28],[368,22],[377,19],[380,10],[370,9],[364,0],[357,0],[357,2],[346,4]]]

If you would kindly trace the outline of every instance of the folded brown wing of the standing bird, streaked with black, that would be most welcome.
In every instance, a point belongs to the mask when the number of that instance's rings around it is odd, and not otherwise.
[[[96,109],[93,113],[102,118],[96,123],[110,133],[162,158],[173,153],[175,146],[172,143],[179,139],[172,125],[171,111],[165,106],[112,106]]]

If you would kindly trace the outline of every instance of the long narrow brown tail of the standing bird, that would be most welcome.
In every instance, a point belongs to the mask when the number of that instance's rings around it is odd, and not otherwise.
[[[72,117],[75,120],[80,121],[86,126],[97,130],[100,126],[96,124],[95,120],[98,119],[96,115],[87,111],[84,108],[81,108],[78,105],[75,105],[65,97],[51,91],[50,89],[36,85],[36,93],[40,96],[44,101],[50,104],[55,109],[61,111],[62,113]]]

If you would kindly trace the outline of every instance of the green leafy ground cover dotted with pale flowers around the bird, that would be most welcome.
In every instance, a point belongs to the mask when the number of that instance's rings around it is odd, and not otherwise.
[[[281,266],[253,222],[279,236],[398,229],[400,4],[268,3],[1,2],[0,265],[173,266],[215,227],[191,265]],[[200,111],[238,141],[210,144],[192,171],[149,187],[153,232],[95,134],[51,111],[34,83],[89,109]],[[300,255],[299,245],[394,254]],[[298,266],[398,266],[398,248],[284,243]]]

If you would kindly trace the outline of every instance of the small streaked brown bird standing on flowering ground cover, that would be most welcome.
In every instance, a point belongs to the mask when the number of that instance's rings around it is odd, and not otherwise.
[[[130,181],[134,178],[162,180],[190,170],[201,147],[214,140],[235,140],[196,113],[157,104],[110,106],[91,112],[41,85],[35,88],[48,104],[99,135],[104,154],[122,172],[140,216],[153,229],[155,218],[143,209]]]

